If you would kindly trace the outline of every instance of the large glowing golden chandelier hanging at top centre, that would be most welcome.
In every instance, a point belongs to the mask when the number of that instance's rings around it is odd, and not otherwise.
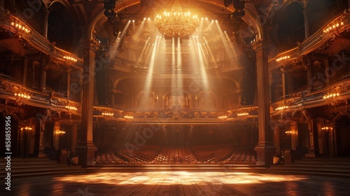
[[[157,15],[155,27],[165,38],[188,38],[198,27],[200,20],[190,11],[182,12],[179,2],[176,0],[172,11]]]

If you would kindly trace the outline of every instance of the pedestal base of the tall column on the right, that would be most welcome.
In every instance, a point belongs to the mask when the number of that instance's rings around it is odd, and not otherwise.
[[[274,153],[276,152],[276,147],[271,144],[258,144],[255,146],[254,151],[258,156],[258,161],[256,165],[273,165],[274,164]]]

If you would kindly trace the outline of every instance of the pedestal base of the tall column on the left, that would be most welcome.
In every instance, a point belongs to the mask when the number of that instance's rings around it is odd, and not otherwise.
[[[88,165],[95,165],[94,153],[97,151],[93,141],[87,141],[86,144],[79,144],[76,146],[76,154],[78,155],[78,165],[87,167]]]

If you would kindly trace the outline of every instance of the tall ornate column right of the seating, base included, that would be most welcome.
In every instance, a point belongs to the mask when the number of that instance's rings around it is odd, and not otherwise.
[[[269,62],[268,45],[265,40],[255,41],[256,72],[258,84],[259,142],[255,146],[257,164],[272,165],[276,147],[272,145],[272,129],[269,125]]]

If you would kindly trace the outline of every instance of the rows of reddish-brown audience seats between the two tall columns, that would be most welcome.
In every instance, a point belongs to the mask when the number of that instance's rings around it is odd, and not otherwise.
[[[171,147],[145,145],[97,152],[96,165],[255,165],[251,146]]]

